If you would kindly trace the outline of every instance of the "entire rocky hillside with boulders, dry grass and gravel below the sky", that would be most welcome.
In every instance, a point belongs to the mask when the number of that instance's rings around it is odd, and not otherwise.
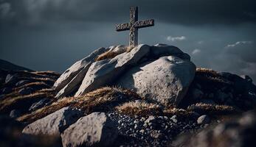
[[[230,129],[240,133],[255,124],[254,112],[243,114],[256,106],[249,76],[196,68],[175,46],[100,48],[60,76],[0,75],[4,146],[214,146],[214,126],[239,118]],[[219,146],[244,142],[223,132],[231,139]]]

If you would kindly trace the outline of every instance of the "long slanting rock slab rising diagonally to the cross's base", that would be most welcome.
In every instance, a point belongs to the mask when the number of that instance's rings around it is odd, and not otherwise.
[[[129,66],[136,65],[149,51],[149,46],[139,45],[130,52],[119,54],[113,59],[92,63],[75,96],[81,96],[91,90],[110,85]]]

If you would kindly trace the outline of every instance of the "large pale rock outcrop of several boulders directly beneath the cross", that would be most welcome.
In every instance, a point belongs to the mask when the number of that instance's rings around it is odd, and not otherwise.
[[[108,56],[105,58],[100,54],[103,50],[97,50],[97,54],[92,53],[66,70],[55,82],[56,97],[73,93],[82,96],[114,85],[135,90],[162,104],[177,105],[187,93],[196,71],[190,56],[175,46],[139,45],[134,49],[112,46],[104,50]],[[101,60],[95,61],[97,56],[101,56]],[[86,67],[83,73],[80,73],[81,67]]]

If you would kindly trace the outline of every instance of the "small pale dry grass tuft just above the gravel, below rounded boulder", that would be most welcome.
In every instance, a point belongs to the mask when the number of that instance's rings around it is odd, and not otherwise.
[[[148,103],[146,101],[130,101],[116,107],[117,111],[125,115],[160,115],[162,107],[158,104]]]

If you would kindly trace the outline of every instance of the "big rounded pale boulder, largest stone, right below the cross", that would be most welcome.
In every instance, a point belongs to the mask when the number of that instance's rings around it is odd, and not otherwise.
[[[193,81],[196,65],[179,57],[161,57],[131,68],[117,85],[134,89],[165,105],[177,105]]]

